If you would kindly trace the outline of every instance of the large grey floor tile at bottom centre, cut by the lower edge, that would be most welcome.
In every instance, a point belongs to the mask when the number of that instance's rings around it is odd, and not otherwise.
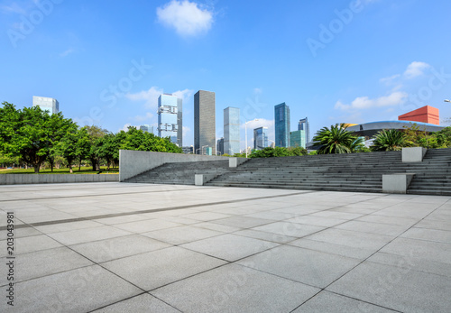
[[[182,312],[290,312],[318,289],[230,264],[152,294]]]

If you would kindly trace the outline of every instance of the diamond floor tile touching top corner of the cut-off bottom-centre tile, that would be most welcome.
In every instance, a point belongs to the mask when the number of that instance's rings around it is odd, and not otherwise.
[[[241,235],[226,234],[199,240],[190,244],[182,244],[181,246],[227,261],[235,261],[248,255],[270,249],[276,245],[278,244]]]

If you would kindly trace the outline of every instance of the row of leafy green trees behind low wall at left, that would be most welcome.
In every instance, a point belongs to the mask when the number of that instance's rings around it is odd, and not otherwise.
[[[97,126],[79,127],[62,113],[49,114],[39,106],[17,109],[4,102],[0,107],[0,157],[3,160],[23,161],[38,173],[48,161],[51,169],[55,161],[64,159],[72,172],[72,165],[89,161],[93,170],[103,161],[109,167],[117,165],[119,150],[139,150],[181,153],[169,138],[144,133],[134,127],[127,132],[110,133]]]

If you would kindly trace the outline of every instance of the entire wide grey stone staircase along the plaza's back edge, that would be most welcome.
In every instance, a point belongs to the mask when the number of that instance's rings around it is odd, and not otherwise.
[[[451,196],[451,149],[428,150],[422,162],[402,163],[401,152],[307,155],[166,163],[129,182],[194,185],[195,174],[216,177],[207,186],[382,192],[382,175],[415,173],[408,193]]]

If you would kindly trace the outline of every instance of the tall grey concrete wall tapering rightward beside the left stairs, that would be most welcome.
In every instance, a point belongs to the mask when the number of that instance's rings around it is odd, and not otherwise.
[[[152,170],[164,163],[178,163],[189,161],[219,161],[229,160],[228,157],[215,155],[198,155],[166,152],[146,152],[146,151],[119,151],[119,181],[124,181]]]

